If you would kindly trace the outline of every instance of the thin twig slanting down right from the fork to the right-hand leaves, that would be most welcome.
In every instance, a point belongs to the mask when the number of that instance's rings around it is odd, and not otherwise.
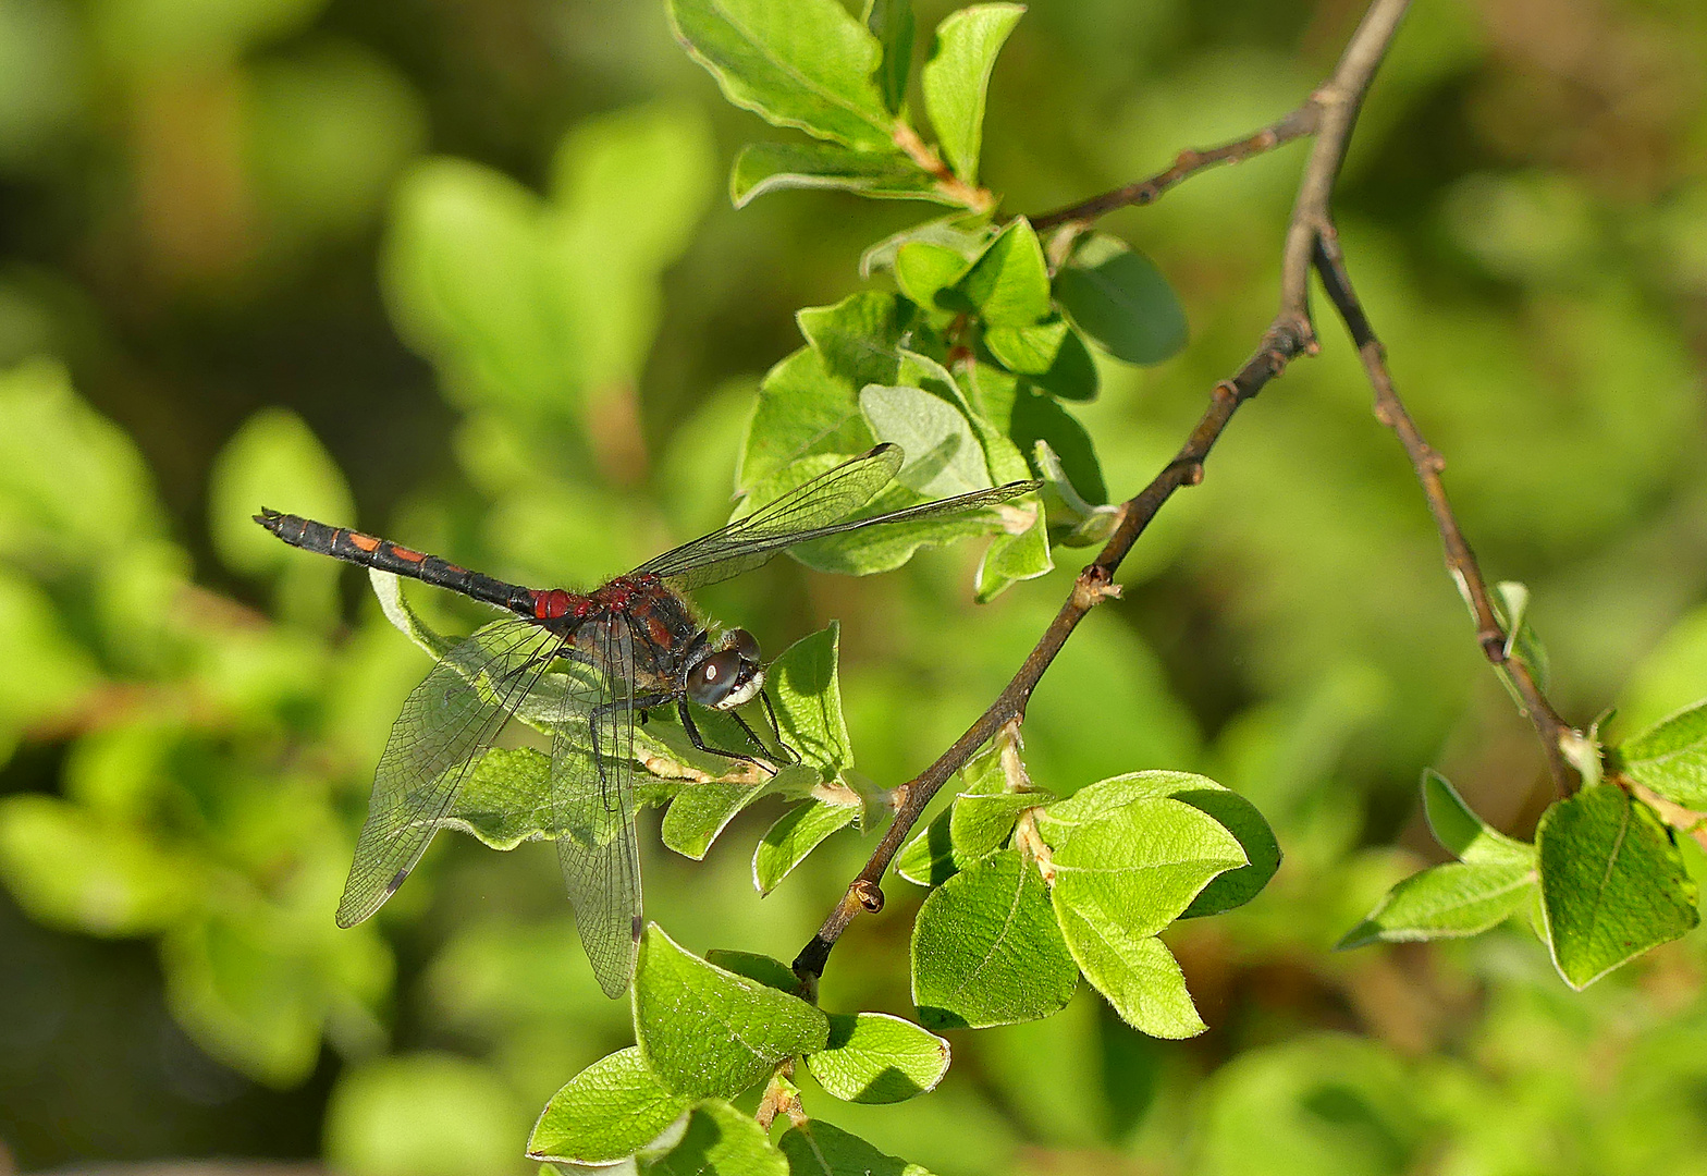
[[[1340,236],[1333,225],[1325,225],[1318,234],[1316,271],[1321,275],[1328,299],[1340,312],[1340,319],[1357,346],[1357,355],[1364,362],[1364,372],[1376,394],[1376,420],[1398,435],[1412,469],[1417,471],[1417,481],[1422,483],[1422,493],[1429,500],[1429,514],[1434,515],[1441,544],[1446,548],[1446,568],[1458,580],[1465,599],[1470,601],[1470,611],[1477,618],[1477,643],[1489,662],[1511,678],[1518,696],[1523,698],[1524,712],[1541,737],[1541,753],[1547,756],[1547,771],[1553,778],[1553,787],[1558,795],[1570,795],[1576,790],[1576,773],[1565,763],[1560,744],[1562,739],[1576,732],[1553,710],[1528,662],[1509,654],[1507,633],[1494,611],[1494,599],[1489,596],[1487,580],[1482,579],[1482,567],[1458,526],[1453,504],[1446,498],[1446,485],[1441,481],[1446,461],[1422,439],[1422,430],[1417,428],[1417,422],[1412,420],[1405,401],[1400,399],[1398,389],[1393,386],[1393,372],[1386,365],[1386,348],[1376,338],[1369,316],[1364,314],[1362,302],[1352,290],[1352,275],[1345,270],[1345,254],[1340,251]]]

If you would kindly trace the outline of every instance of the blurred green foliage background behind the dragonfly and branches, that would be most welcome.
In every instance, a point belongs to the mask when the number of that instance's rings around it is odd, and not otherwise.
[[[920,3],[922,29],[946,10]],[[1248,133],[1359,15],[1038,0],[997,67],[985,183],[1040,212]],[[0,0],[0,1171],[524,1173],[538,1108],[628,1039],[545,847],[444,836],[377,920],[333,927],[427,666],[358,573],[248,515],[536,584],[717,522],[794,311],[860,288],[860,249],[929,215],[828,193],[736,213],[727,160],[766,137],[654,0]],[[1115,497],[1272,314],[1304,150],[1106,222],[1191,317],[1183,355],[1108,365],[1079,413]],[[1635,731],[1707,695],[1707,10],[1420,3],[1338,208],[1485,570],[1536,592],[1560,710]],[[1169,935],[1212,1029],[1151,1041],[1082,990],[956,1036],[929,1097],[809,1109],[942,1176],[1707,1173],[1700,934],[1584,995],[1521,927],[1328,951],[1432,860],[1424,765],[1519,835],[1548,785],[1343,331],[1321,333],[1026,724],[1057,792],[1200,770],[1275,824],[1270,889]],[[975,609],[975,558],[867,580],[782,562],[702,604],[773,652],[838,618],[859,770],[893,785],[993,696],[1072,572]],[[685,946],[792,958],[869,845],[836,835],[760,901],[760,809],[703,864],[644,835],[649,913]],[[894,881],[855,925],[828,1007],[910,1012],[917,901]]]

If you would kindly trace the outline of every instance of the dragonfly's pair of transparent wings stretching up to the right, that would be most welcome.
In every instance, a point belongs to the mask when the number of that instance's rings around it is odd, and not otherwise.
[[[905,454],[898,445],[877,445],[871,452],[818,474],[775,502],[765,504],[744,519],[736,519],[727,527],[647,560],[635,572],[666,577],[683,591],[696,589],[749,572],[772,560],[784,548],[799,543],[888,522],[917,522],[992,507],[1031,493],[1043,485],[1041,481],[1011,481],[1004,486],[973,490],[953,498],[922,502],[917,507],[891,510],[871,519],[838,522],[889,485],[903,461]]]

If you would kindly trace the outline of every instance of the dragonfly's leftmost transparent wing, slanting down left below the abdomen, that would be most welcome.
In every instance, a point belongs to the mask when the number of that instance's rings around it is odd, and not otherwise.
[[[403,886],[451,811],[469,765],[562,643],[526,620],[488,625],[446,652],[403,702],[374,771],[367,821],[338,899],[340,927],[355,927]]]

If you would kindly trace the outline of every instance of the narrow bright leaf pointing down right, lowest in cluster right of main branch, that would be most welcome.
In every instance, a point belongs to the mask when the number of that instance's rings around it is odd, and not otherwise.
[[[1161,939],[1077,911],[1060,894],[1053,901],[1067,949],[1121,1021],[1152,1038],[1195,1038],[1209,1028],[1197,1016],[1180,961]]]

